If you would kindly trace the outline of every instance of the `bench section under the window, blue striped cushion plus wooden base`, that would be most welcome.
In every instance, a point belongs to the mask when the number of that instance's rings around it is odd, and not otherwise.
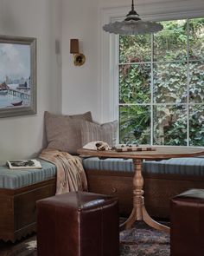
[[[118,196],[120,213],[132,209],[131,160],[83,160],[90,192]],[[143,162],[145,206],[153,217],[169,218],[169,198],[189,188],[204,188],[204,157]]]

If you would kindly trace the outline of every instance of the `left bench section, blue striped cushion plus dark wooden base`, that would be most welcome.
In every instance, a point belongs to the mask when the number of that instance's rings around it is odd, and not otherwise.
[[[56,167],[41,161],[41,169],[0,167],[0,240],[16,241],[36,231],[36,200],[55,194]]]

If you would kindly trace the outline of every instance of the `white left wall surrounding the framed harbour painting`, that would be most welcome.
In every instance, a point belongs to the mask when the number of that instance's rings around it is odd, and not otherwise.
[[[61,112],[60,11],[60,0],[0,0],[0,35],[37,38],[37,114],[0,118],[0,161],[39,152],[44,111]]]

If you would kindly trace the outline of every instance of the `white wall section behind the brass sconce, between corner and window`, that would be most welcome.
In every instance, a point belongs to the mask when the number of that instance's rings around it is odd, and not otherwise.
[[[62,0],[62,112],[92,110],[99,116],[99,11],[97,0]],[[70,39],[80,39],[86,56],[81,67],[73,65]]]

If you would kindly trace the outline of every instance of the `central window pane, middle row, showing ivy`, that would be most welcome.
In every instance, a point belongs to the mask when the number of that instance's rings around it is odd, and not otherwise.
[[[154,102],[187,101],[187,63],[154,64]]]

